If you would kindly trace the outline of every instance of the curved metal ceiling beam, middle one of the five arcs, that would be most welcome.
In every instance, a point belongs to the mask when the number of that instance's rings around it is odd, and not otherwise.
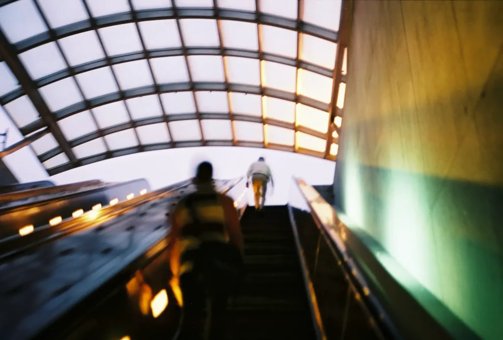
[[[141,87],[131,90],[123,91],[123,96],[120,93],[112,93],[109,95],[101,96],[98,98],[94,98],[88,100],[86,102],[80,102],[73,104],[69,107],[61,109],[53,113],[56,120],[61,120],[63,118],[69,117],[76,113],[90,110],[96,108],[101,105],[110,104],[113,102],[126,100],[130,98],[154,95],[154,94],[162,94],[162,93],[171,93],[171,92],[184,92],[184,91],[226,91],[225,83],[222,82],[194,82],[191,88],[189,82],[182,83],[172,83],[172,84],[159,84],[159,91],[155,91],[155,87],[153,85],[147,87]],[[244,84],[228,84],[228,89],[230,92],[239,92],[246,94],[256,94],[268,97],[279,98],[291,102],[301,103],[307,106],[311,106],[315,109],[322,110],[328,112],[329,104],[323,103],[312,98],[308,98],[305,96],[296,96],[294,93],[264,88],[264,92],[261,93],[261,87],[255,85],[244,85]],[[27,135],[31,132],[37,131],[38,129],[43,128],[44,122],[41,119],[37,119],[36,121],[22,127],[20,129],[23,135]]]

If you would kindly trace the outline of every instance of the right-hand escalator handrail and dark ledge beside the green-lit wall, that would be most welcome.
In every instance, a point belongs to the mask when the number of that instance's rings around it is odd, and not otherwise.
[[[302,194],[303,199],[309,206],[313,220],[317,224],[321,234],[324,236],[328,245],[332,249],[332,253],[334,254],[334,256],[339,257],[340,259],[342,257],[341,267],[343,267],[343,270],[345,271],[345,274],[349,278],[350,282],[362,297],[360,299],[362,305],[368,310],[368,312],[373,314],[373,320],[376,322],[376,324],[380,324],[381,327],[385,327],[385,329],[383,330],[388,330],[389,332],[391,332],[391,336],[393,338],[409,338],[410,336],[417,335],[418,330],[421,330],[424,336],[436,339],[479,338],[468,326],[466,326],[466,324],[464,324],[459,318],[457,318],[452,313],[452,311],[442,305],[441,302],[437,303],[437,306],[439,306],[438,309],[440,310],[437,312],[437,316],[443,317],[444,322],[439,322],[439,320],[436,319],[436,317],[434,317],[420,303],[420,301],[418,301],[410,292],[408,292],[406,288],[403,287],[382,264],[380,264],[379,260],[376,259],[371,250],[368,249],[368,242],[364,242],[361,239],[360,235],[358,235],[356,232],[353,232],[346,226],[344,222],[342,222],[340,214],[336,209],[328,204],[323,199],[323,197],[319,193],[317,193],[314,188],[312,188],[312,186],[307,185],[301,179],[295,178],[294,182],[297,185],[300,193]],[[337,220],[339,222],[339,226],[344,227],[343,230],[345,230],[345,233],[347,233],[345,241],[342,239],[342,235],[339,235],[337,231],[326,227],[325,224],[322,223],[323,218],[318,216],[315,212],[315,209],[313,208],[312,202],[314,202],[314,200],[309,200],[305,196],[305,193],[301,189],[301,184],[306,187],[310,187],[310,189],[318,194],[315,200],[316,202],[324,202],[324,204],[330,207],[334,221]],[[346,246],[346,244],[348,245],[348,247]],[[387,288],[387,292],[393,293],[393,301],[400,301],[400,303],[402,304],[402,309],[413,310],[413,320],[411,318],[405,318],[404,322],[400,310],[388,310],[392,307],[392,301],[388,301],[388,299],[383,296],[382,292],[379,292],[377,288],[374,290],[369,290],[368,283],[371,283],[371,285],[373,285],[375,288],[375,282],[373,282],[374,280],[369,278],[368,275],[366,275],[365,272],[359,268],[359,265],[357,265],[356,259],[354,259],[354,257],[352,256],[353,252],[355,252],[355,247],[358,247],[358,254],[355,253],[357,257],[365,257],[366,259],[373,260],[373,265],[379,271],[380,277],[386,279],[386,285],[389,286],[385,287]],[[386,250],[382,248],[380,249],[380,252],[384,253],[386,252]],[[376,273],[377,271],[374,270],[372,272],[372,275],[375,276]],[[380,283],[384,285],[383,282]],[[436,298],[434,298],[432,295],[430,300],[435,299]],[[391,317],[391,315],[393,317]],[[397,317],[402,318],[401,322],[397,321]],[[425,335],[424,333],[428,334]]]

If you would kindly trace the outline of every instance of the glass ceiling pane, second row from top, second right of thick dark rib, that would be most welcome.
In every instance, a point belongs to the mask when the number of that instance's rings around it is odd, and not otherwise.
[[[70,35],[60,39],[59,45],[70,66],[105,58],[96,31]]]

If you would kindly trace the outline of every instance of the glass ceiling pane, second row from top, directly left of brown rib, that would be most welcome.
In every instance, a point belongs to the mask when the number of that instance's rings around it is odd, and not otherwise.
[[[336,62],[337,44],[331,41],[313,37],[309,34],[301,34],[302,60],[313,64],[333,69]]]

